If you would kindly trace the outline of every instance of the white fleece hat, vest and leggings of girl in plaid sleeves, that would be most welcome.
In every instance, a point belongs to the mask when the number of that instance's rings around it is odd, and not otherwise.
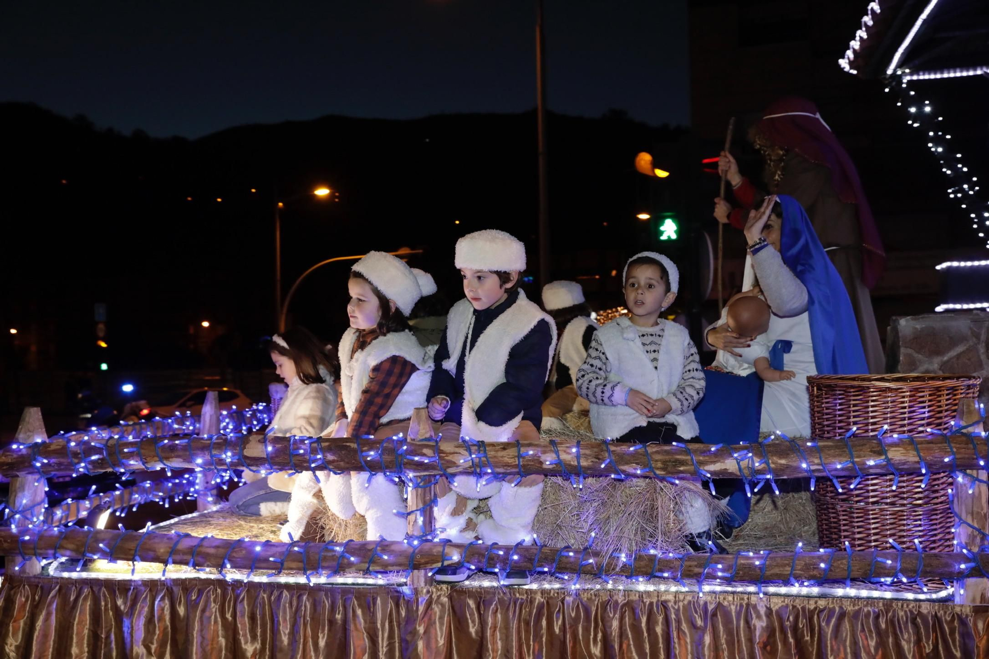
[[[427,273],[413,270],[401,259],[383,251],[369,252],[352,269],[394,301],[406,316],[422,297],[423,287],[436,290],[432,277]],[[347,329],[343,332],[338,349],[340,393],[347,417],[350,418],[357,409],[372,369],[390,357],[401,356],[414,364],[417,370],[405,383],[381,423],[410,418],[415,408],[425,405],[433,369],[432,352],[422,347],[411,331],[404,330],[378,336],[351,356],[358,334],[357,329]],[[363,472],[330,475],[323,479],[322,495],[336,516],[346,519],[356,512],[367,518],[367,539],[405,538],[405,502],[396,483],[384,475],[374,476],[370,480]]]

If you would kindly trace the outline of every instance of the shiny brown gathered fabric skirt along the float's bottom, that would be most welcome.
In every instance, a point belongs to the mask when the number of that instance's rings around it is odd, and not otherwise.
[[[989,656],[989,607],[638,591],[5,577],[8,657]]]

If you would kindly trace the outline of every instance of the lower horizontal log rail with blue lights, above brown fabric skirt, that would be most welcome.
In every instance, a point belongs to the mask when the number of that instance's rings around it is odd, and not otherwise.
[[[36,542],[37,538],[37,542]],[[596,549],[561,548],[550,546],[496,545],[489,552],[487,544],[425,542],[410,546],[404,542],[342,541],[315,542],[261,542],[240,538],[197,537],[176,533],[143,533],[82,528],[35,528],[12,531],[0,530],[0,555],[12,557],[16,564],[21,555],[51,558],[57,545],[57,555],[62,558],[110,559],[132,561],[135,556],[141,562],[233,570],[283,570],[316,574],[321,568],[331,575],[339,566],[340,571],[404,571],[409,567],[423,570],[460,564],[477,568],[518,569],[529,572],[604,574],[605,576],[654,576],[657,578],[698,579],[706,581],[728,579],[736,566],[735,554],[670,554],[636,552],[622,557]],[[377,550],[376,550],[377,547]],[[466,556],[464,552],[466,551]],[[341,555],[342,554],[342,555]],[[413,555],[414,554],[414,555]],[[169,556],[170,561],[169,561]],[[915,551],[902,553],[888,550],[848,552],[838,550],[772,552],[770,554],[748,552],[738,556],[734,571],[736,582],[781,581],[788,583],[792,577],[800,581],[830,579],[844,582],[848,578],[892,578],[897,574],[907,580],[953,579],[980,574],[989,570],[989,553],[979,552],[971,559],[963,553],[924,552],[923,565],[918,570],[921,555]],[[794,560],[795,558],[795,560]],[[485,561],[487,560],[487,566]],[[852,569],[849,570],[849,562]],[[977,563],[978,564],[977,564]],[[601,567],[604,567],[601,572]],[[822,567],[822,565],[824,567]],[[899,570],[897,571],[897,568]],[[22,568],[23,569],[23,568]],[[20,571],[12,571],[18,574]]]

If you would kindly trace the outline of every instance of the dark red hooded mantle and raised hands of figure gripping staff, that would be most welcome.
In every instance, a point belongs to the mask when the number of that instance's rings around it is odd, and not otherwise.
[[[784,98],[770,105],[751,137],[765,157],[768,192],[790,195],[807,211],[852,299],[869,370],[884,372],[885,357],[869,289],[882,275],[886,254],[852,158],[817,106],[802,98]],[[758,208],[766,193],[739,173],[730,153],[722,151],[718,169],[727,176],[743,208],[733,211],[719,198],[714,215],[719,222],[742,229],[748,209]]]

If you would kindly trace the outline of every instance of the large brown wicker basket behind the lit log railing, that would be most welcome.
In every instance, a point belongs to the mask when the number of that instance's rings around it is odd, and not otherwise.
[[[888,432],[913,434],[927,428],[947,430],[959,403],[976,398],[980,378],[968,375],[815,375],[810,389],[811,431],[815,437],[842,437]],[[902,546],[919,539],[926,551],[951,551],[953,518],[947,505],[947,473],[868,476],[851,489],[854,478],[840,478],[842,492],[830,479],[817,480],[814,497],[822,547],[888,549],[892,538]]]

